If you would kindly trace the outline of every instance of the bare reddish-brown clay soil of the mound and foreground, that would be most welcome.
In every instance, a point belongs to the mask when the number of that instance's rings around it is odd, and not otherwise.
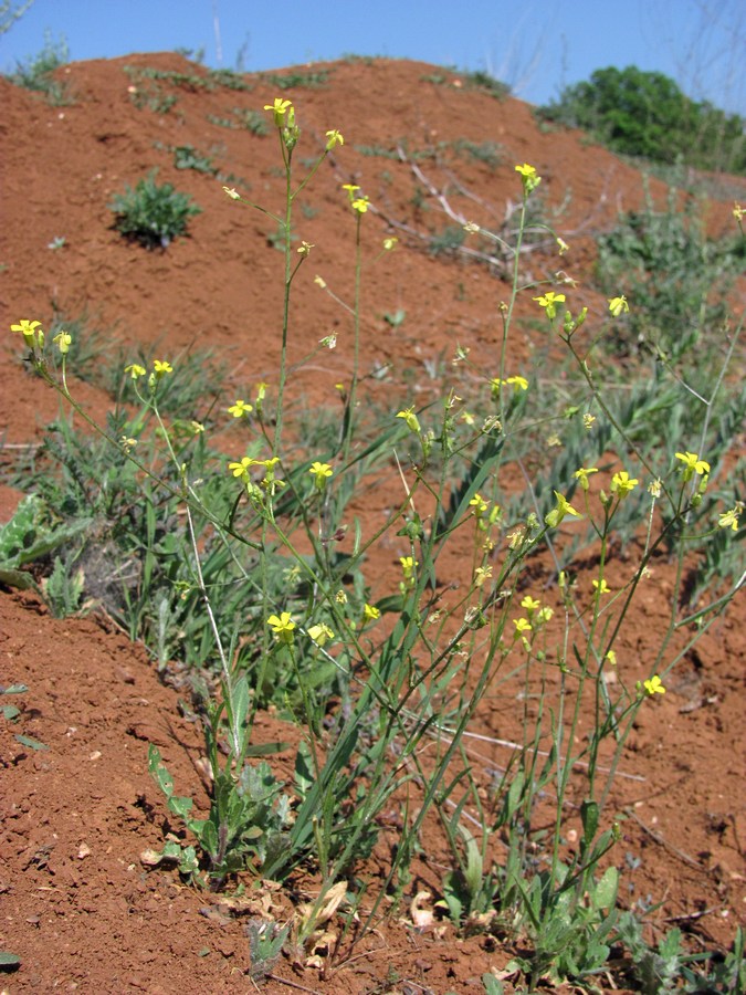
[[[125,66],[139,69],[139,77],[126,74]],[[203,72],[169,54],[73,64],[61,73],[73,102],[59,107],[0,80],[2,327],[20,317],[49,324],[55,312],[69,321],[87,314],[106,336],[106,349],[119,343],[156,347],[156,355],[174,362],[181,350],[209,346],[229,366],[224,391],[233,399],[234,391],[273,378],[282,256],[267,241],[272,226],[228,201],[221,186],[237,186],[275,209],[282,190],[274,137],[216,122],[235,121],[237,109],[261,111],[277,90],[252,77],[250,93],[161,83],[160,95],[178,100],[168,113],[156,113],[136,106],[138,91],[146,97],[155,92],[143,74],[148,67]],[[393,383],[397,373],[413,370],[410,383],[427,384],[425,364],[448,362],[456,341],[474,355],[497,355],[495,315],[507,285],[484,268],[421,251],[413,231],[440,231],[452,222],[433,197],[419,203],[422,178],[381,150],[395,154],[406,146],[411,156],[451,143],[450,151],[441,147],[442,161],[412,159],[443,189],[456,155],[453,143],[498,143],[496,168],[461,146],[459,178],[479,199],[460,196],[452,186],[449,193],[455,210],[487,227],[498,224],[506,202],[518,197],[514,164],[535,165],[547,209],[565,206],[556,223],[571,244],[564,260],[550,241],[544,253],[527,258],[536,279],[560,265],[572,277],[587,279],[595,234],[610,227],[619,210],[640,203],[637,170],[580,135],[540,132],[527,105],[471,91],[454,74],[382,60],[312,71],[328,71],[322,87],[288,92],[303,128],[300,155],[313,156],[333,127],[346,145],[319,171],[297,229],[317,248],[297,281],[294,356],[307,354],[332,331],[339,336],[334,353],[324,353],[294,380],[309,405],[332,405],[334,384],[350,364],[349,322],[313,280],[318,273],[336,294],[351,294],[354,229],[339,193],[344,182],[359,184],[376,206],[366,217],[371,243],[390,234],[401,240],[396,253],[377,263],[364,290],[363,369],[391,363]],[[435,74],[445,82],[432,82]],[[171,149],[186,145],[211,154],[220,177],[177,170]],[[190,238],[164,253],[125,242],[111,229],[107,207],[125,184],[134,185],[154,166],[159,180],[191,193],[203,209],[190,224]],[[663,186],[652,182],[652,190],[662,202]],[[731,206],[727,199],[712,202],[714,228],[728,223]],[[57,237],[65,239],[64,248],[48,248]],[[591,318],[600,315],[606,302],[591,291],[580,293]],[[398,308],[406,320],[393,328],[382,315]],[[526,332],[516,364],[530,364],[534,348]],[[0,426],[8,462],[17,447],[39,441],[57,401],[23,373],[19,342],[6,336],[2,350]],[[386,385],[380,389],[389,404],[407,400]],[[99,417],[108,407],[92,387],[76,386],[75,392]],[[185,412],[197,419],[202,413]],[[227,437],[231,444],[241,444],[238,434],[234,441]],[[17,499],[8,488],[0,490],[0,520],[12,513]],[[648,633],[661,620],[658,593],[671,583],[669,566],[656,564],[653,585],[620,645],[641,661],[640,673]],[[149,871],[140,862],[141,851],[162,845],[166,824],[164,799],[147,773],[148,742],[158,745],[177,785],[199,783],[200,735],[181,718],[179,693],[159,681],[143,649],[111,626],[107,630],[95,615],[57,621],[35,597],[0,593],[0,682],[29,688],[13,699],[22,706],[19,722],[0,722],[0,950],[22,960],[6,989],[251,989],[246,918],[271,912],[282,920],[291,911],[287,900],[258,894],[241,914],[231,914],[220,897],[181,887],[174,872]],[[614,798],[633,813],[616,851],[622,896],[661,902],[656,934],[680,924],[691,931],[695,947],[727,946],[746,917],[743,620],[742,600],[676,671],[670,693],[641,712],[622,768],[645,779],[621,782]],[[495,702],[493,711],[486,731],[506,735],[515,699]],[[280,735],[271,718],[260,731],[267,739]],[[23,746],[17,733],[48,748]],[[287,739],[287,730],[282,736]],[[388,832],[385,842],[395,842],[393,830]],[[434,863],[418,867],[413,889],[434,891],[440,845],[425,842]],[[626,853],[641,861],[635,870]],[[351,956],[342,949],[321,976],[313,970],[294,973],[281,960],[277,980],[265,991],[479,993],[480,976],[509,957],[487,938],[460,940],[448,925],[420,933],[407,920],[382,923]]]

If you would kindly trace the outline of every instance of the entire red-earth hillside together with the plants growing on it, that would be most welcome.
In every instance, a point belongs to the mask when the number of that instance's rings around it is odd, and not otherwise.
[[[67,170],[10,149],[12,984],[737,991],[733,202],[429,67],[148,60],[8,88]]]

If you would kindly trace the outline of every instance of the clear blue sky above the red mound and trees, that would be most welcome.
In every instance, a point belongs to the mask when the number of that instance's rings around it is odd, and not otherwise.
[[[0,36],[0,71],[40,52],[45,32],[72,60],[177,48],[246,71],[350,52],[417,59],[486,70],[536,104],[633,64],[746,116],[743,0],[35,0]]]

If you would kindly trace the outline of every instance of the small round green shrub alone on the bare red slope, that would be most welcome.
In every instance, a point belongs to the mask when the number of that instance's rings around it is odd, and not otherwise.
[[[155,171],[133,189],[117,195],[109,209],[116,213],[114,228],[146,249],[166,249],[185,234],[189,218],[201,212],[187,193],[179,193],[171,184],[156,184]]]

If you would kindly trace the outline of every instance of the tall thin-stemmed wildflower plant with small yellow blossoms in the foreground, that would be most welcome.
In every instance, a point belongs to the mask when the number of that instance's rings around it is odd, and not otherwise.
[[[540,177],[522,164],[511,294],[498,311],[500,344],[485,359],[488,374],[481,369],[475,377],[482,394],[462,398],[454,380],[440,402],[424,409],[402,399],[361,446],[360,291],[368,253],[378,258],[369,247],[380,242],[370,231],[375,205],[357,185],[345,185],[339,196],[355,260],[351,371],[338,385],[343,419],[336,437],[298,458],[287,425],[291,300],[314,247],[303,242],[296,250],[290,235],[298,198],[332,150],[342,154],[345,139],[328,129],[298,177],[294,160],[303,136],[293,103],[279,96],[264,109],[277,140],[284,200],[270,210],[224,188],[224,209],[260,212],[284,234],[280,365],[271,387],[261,384],[219,406],[225,425],[243,432],[232,459],[209,453],[210,429],[196,412],[183,432],[164,415],[160,399],[178,371],[174,357],[126,365],[139,411],[114,432],[95,426],[67,387],[70,336],[60,333],[50,343],[38,320],[13,325],[38,374],[132,468],[138,486],[162,491],[182,511],[187,564],[171,564],[171,584],[204,620],[199,646],[201,666],[213,675],[203,718],[212,787],[209,813],[196,817],[191,798],[177,794],[150,748],[150,771],[168,808],[191,834],[187,846],[169,842],[164,852],[179,860],[182,873],[212,887],[244,872],[283,881],[298,867],[313,871],[318,898],[300,926],[303,942],[326,898],[340,886],[344,891],[371,852],[381,813],[398,806],[398,847],[358,936],[381,912],[387,892],[401,896],[425,819],[435,818],[452,858],[443,890],[456,924],[485,928],[498,919],[528,935],[530,985],[547,971],[589,976],[602,968],[617,923],[618,873],[612,867],[601,874],[599,865],[620,837],[609,809],[624,744],[639,710],[661,706],[668,675],[738,587],[694,615],[681,610],[687,554],[710,533],[729,540],[743,510],[735,495],[727,507],[708,506],[717,468],[708,455],[707,405],[698,437],[677,440],[680,451],[666,464],[635,442],[596,381],[587,345],[578,343],[578,328],[590,321],[582,301],[568,301],[559,287],[523,283],[521,244]],[[330,293],[322,277],[315,282]],[[527,469],[524,441],[538,387],[525,371],[508,368],[519,294],[542,308],[546,334],[565,347],[575,368],[580,448],[561,479],[540,489]],[[628,308],[633,311],[633,300],[610,298],[605,322],[624,321]],[[322,341],[318,348],[325,347]],[[50,363],[52,348],[60,375]],[[456,358],[472,362],[461,347]],[[596,418],[607,431],[600,452]],[[566,410],[559,411],[553,429],[561,431],[566,422]],[[145,459],[139,452],[148,438],[158,448]],[[397,452],[409,443],[414,454],[402,465]],[[609,451],[617,462],[602,465],[600,455]],[[503,481],[516,467],[526,491],[508,509]],[[387,480],[399,498],[370,534],[356,523],[342,553],[348,502],[364,473]],[[630,563],[620,563],[613,551],[628,510],[638,514],[641,507],[638,501],[645,502],[637,523],[641,545]],[[571,537],[580,532],[590,536],[595,568],[576,583]],[[681,565],[670,622],[640,673],[621,637],[649,564],[666,544]],[[469,549],[469,577],[444,594],[450,578],[441,565],[452,547]],[[375,548],[395,551],[382,587],[366,578],[366,557]],[[553,565],[542,590],[526,572],[538,554]],[[154,559],[168,555],[161,544]],[[242,600],[231,601],[239,582]],[[613,682],[607,680],[611,668]],[[469,735],[486,696],[516,674],[523,688],[518,739],[504,773],[496,781],[482,777],[469,756]],[[253,742],[258,710],[267,700],[303,730],[292,783],[281,782],[266,760],[287,744]],[[589,702],[595,724],[581,736],[581,710]],[[553,811],[540,836],[537,811],[546,797]],[[581,824],[574,850],[565,845],[570,802]]]

